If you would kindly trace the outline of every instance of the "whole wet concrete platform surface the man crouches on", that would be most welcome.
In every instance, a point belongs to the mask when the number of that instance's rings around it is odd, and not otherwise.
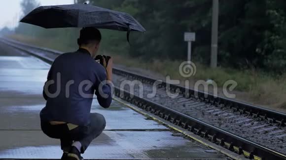
[[[0,159],[59,159],[59,140],[44,135],[39,124],[50,65],[2,44],[1,51],[5,53],[0,53]],[[162,124],[115,101],[104,109],[95,99],[92,112],[103,114],[107,127],[87,149],[85,159],[226,159],[196,141],[173,136]]]

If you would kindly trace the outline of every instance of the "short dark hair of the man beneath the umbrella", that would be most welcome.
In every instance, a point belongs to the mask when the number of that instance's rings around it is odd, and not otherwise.
[[[82,44],[89,44],[93,41],[101,41],[101,33],[95,27],[83,27],[80,30],[79,38],[77,39],[77,44],[80,46]]]

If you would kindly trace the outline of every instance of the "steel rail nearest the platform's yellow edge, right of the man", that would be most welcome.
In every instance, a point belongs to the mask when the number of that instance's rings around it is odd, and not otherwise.
[[[196,118],[182,114],[169,107],[156,104],[142,97],[131,94],[115,87],[115,95],[137,107],[149,111],[181,128],[187,129],[206,139],[219,144],[239,155],[249,159],[260,160],[285,160],[286,155],[256,144],[250,140],[226,132],[222,129],[209,125]]]

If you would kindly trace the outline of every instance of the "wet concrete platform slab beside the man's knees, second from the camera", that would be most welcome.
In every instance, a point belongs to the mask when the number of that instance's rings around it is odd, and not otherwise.
[[[40,130],[39,112],[45,106],[42,98],[0,98],[0,131],[2,130]],[[145,120],[127,107],[113,102],[108,109],[102,108],[95,99],[91,112],[106,117],[106,130],[168,130],[154,121]]]

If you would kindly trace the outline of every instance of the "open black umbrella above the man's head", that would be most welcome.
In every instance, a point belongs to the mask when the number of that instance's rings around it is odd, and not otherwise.
[[[131,15],[89,4],[40,6],[20,22],[44,28],[97,27],[120,31],[146,30]]]

